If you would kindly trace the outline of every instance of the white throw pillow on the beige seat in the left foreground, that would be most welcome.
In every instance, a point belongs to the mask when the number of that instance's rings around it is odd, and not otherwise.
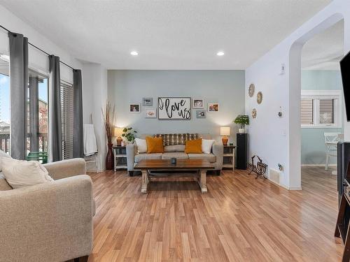
[[[3,176],[13,189],[53,181],[38,161],[21,161],[1,157]]]

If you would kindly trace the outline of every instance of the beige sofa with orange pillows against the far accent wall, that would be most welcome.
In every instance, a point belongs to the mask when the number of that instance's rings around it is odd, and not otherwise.
[[[199,138],[211,139],[211,135],[196,134]],[[141,135],[140,138],[146,138],[146,136],[153,135]],[[142,159],[207,159],[210,163],[214,163],[216,173],[219,175],[223,168],[223,144],[215,142],[211,147],[211,154],[186,154],[185,145],[168,145],[164,147],[164,153],[137,153],[136,143],[127,145],[127,170],[130,176],[134,175],[134,166]]]

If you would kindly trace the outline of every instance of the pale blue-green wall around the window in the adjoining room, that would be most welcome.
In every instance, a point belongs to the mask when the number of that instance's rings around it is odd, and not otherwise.
[[[303,90],[341,90],[342,78],[340,71],[312,70],[302,71]],[[342,101],[344,103],[344,101]],[[343,108],[343,106],[342,106]],[[344,112],[343,117],[344,119]],[[344,123],[343,123],[344,125]],[[325,140],[323,133],[340,132],[342,129],[302,129],[302,164],[325,164]],[[335,157],[330,163],[336,163]]]

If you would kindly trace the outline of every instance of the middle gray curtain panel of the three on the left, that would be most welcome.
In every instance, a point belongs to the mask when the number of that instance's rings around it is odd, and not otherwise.
[[[49,136],[48,159],[50,162],[62,160],[62,117],[61,117],[61,87],[59,73],[59,57],[49,57]]]

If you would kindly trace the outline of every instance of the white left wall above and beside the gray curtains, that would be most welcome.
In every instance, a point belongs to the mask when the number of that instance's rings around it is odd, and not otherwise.
[[[6,8],[0,6],[0,24],[10,31],[23,34],[29,39],[30,43],[38,46],[48,52],[59,56],[61,61],[69,64],[73,68],[82,69],[83,77],[83,118],[84,123],[90,122],[92,115],[98,145],[98,169],[104,170],[106,158],[106,137],[101,117],[101,108],[104,107],[107,97],[107,70],[99,64],[82,64],[75,59],[69,52],[66,52],[55,45],[48,38],[38,31],[29,27],[29,25],[20,20],[19,17],[10,13]],[[0,52],[8,54],[8,33],[0,29]],[[29,46],[29,67],[42,73],[48,73],[48,56],[41,51]],[[61,64],[61,78],[68,82],[73,82],[73,73],[71,68]]]

